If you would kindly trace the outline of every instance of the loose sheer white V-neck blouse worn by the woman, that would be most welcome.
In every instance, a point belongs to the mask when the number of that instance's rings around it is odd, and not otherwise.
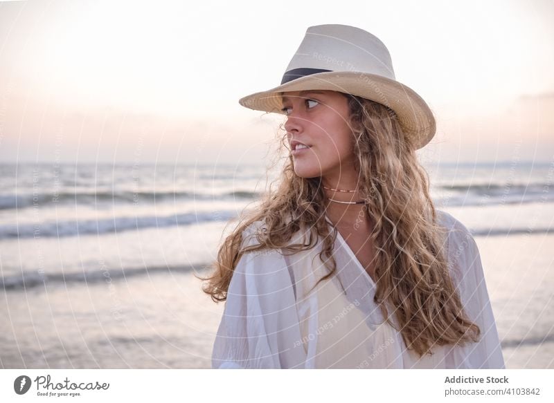
[[[337,232],[337,271],[328,271],[316,247],[289,256],[280,250],[247,252],[235,268],[213,345],[213,368],[505,368],[481,257],[467,228],[437,210],[446,227],[449,270],[480,340],[438,346],[419,357],[384,322],[373,301],[375,283]],[[329,221],[328,221],[329,222]],[[330,223],[330,222],[329,222]],[[258,221],[243,235],[255,245]],[[300,243],[300,232],[293,243]],[[393,310],[388,310],[393,312]],[[395,325],[394,315],[391,320]],[[396,326],[398,327],[398,326]]]

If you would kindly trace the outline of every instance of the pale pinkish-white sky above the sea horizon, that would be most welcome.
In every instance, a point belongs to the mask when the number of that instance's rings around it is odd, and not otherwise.
[[[317,7],[314,7],[317,4]],[[262,162],[307,27],[382,39],[439,161],[554,159],[553,1],[0,2],[2,162]]]

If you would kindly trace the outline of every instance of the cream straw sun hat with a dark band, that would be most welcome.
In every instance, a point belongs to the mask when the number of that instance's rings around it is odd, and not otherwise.
[[[388,106],[418,149],[435,134],[429,106],[415,91],[396,81],[386,46],[360,28],[339,24],[307,28],[280,85],[242,97],[239,103],[256,111],[284,113],[281,93],[305,90],[339,91]]]

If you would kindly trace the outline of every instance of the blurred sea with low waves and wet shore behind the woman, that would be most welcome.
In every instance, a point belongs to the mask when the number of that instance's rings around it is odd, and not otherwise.
[[[470,229],[507,368],[554,368],[554,164],[427,167]],[[201,291],[258,165],[0,165],[2,368],[210,368]]]

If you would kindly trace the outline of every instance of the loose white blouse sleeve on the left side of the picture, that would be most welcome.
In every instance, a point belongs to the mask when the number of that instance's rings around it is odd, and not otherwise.
[[[293,279],[278,250],[247,252],[233,272],[212,368],[301,368]]]

